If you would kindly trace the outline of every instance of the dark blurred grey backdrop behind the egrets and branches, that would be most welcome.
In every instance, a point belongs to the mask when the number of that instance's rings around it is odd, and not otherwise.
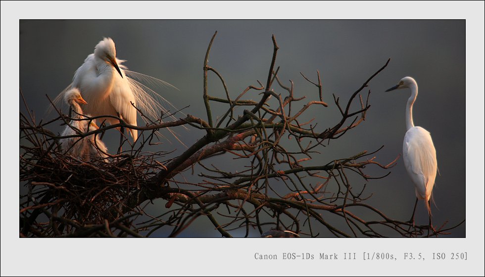
[[[114,40],[118,58],[127,60],[124,64],[130,70],[180,89],[156,91],[176,107],[190,105],[184,112],[203,119],[206,114],[202,102],[202,65],[216,30],[209,65],[225,77],[233,98],[248,85],[257,85],[256,80],[265,83],[274,34],[280,46],[278,75],[287,84],[290,79],[294,81],[295,96],[316,99],[315,87],[299,72],[316,80],[316,70],[320,71],[323,97],[330,105],[323,110],[309,109],[305,118],[315,118],[315,122],[326,127],[339,117],[332,93],[346,102],[391,58],[388,67],[369,84],[371,108],[366,121],[332,141],[312,163],[327,163],[382,145],[385,147],[376,156],[383,164],[399,155],[410,91],[384,91],[402,77],[412,76],[419,86],[414,123],[431,132],[440,173],[433,191],[436,202],[432,206],[433,221],[440,225],[449,220],[447,226],[451,227],[465,219],[465,20],[20,20],[19,24],[20,88],[38,120],[54,116],[46,113],[49,105],[46,94],[54,98],[68,86],[74,71],[103,37]],[[214,77],[209,78],[210,94],[223,96],[222,85]],[[248,97],[257,99],[258,95],[252,92]],[[22,100],[20,103],[20,111],[24,112]],[[225,105],[213,104],[215,115],[226,109]],[[53,131],[60,130],[61,127]],[[175,131],[187,145],[203,136],[203,132],[193,128]],[[119,137],[111,133],[104,141],[109,149],[116,149]],[[178,152],[184,149],[170,135],[167,139],[170,142],[165,141],[160,147],[177,148]],[[385,173],[372,168],[368,172]],[[189,173],[185,177],[197,180]],[[364,183],[357,179],[353,182]],[[370,180],[367,192],[373,194],[369,203],[389,217],[409,219],[415,193],[402,158],[388,177]],[[164,209],[162,201],[155,204],[150,208],[153,213]],[[416,220],[418,224],[428,222],[423,201],[418,204]],[[166,234],[166,231],[156,233]],[[233,233],[238,234],[243,235],[243,231]],[[326,235],[323,228],[322,234]],[[206,219],[198,219],[182,236],[220,234]],[[449,236],[465,237],[465,224]]]

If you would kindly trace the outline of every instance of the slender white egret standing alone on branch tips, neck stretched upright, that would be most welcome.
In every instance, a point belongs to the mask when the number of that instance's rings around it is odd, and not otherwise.
[[[414,183],[416,193],[416,202],[411,220],[414,224],[416,204],[418,199],[422,199],[425,200],[431,225],[430,198],[436,178],[436,150],[430,132],[419,126],[414,126],[413,123],[413,104],[418,96],[418,84],[413,78],[404,77],[397,85],[386,92],[405,88],[411,89],[411,97],[409,97],[406,104],[407,131],[402,144],[402,158],[404,167]]]

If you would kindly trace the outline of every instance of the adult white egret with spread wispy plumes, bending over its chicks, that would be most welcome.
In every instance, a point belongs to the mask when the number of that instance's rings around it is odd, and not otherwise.
[[[125,60],[116,57],[113,40],[104,38],[97,44],[94,53],[88,55],[84,63],[76,70],[72,84],[55,98],[54,103],[59,102],[71,88],[77,88],[88,102],[84,111],[92,116],[115,116],[129,125],[137,126],[138,108],[145,116],[158,118],[160,111],[166,112],[166,109],[152,95],[170,103],[129,76],[140,81],[175,87],[156,78],[129,71],[126,66],[122,65],[123,62]],[[113,117],[99,118],[97,121],[109,124],[119,123],[119,120]],[[123,128],[119,130],[123,133]],[[133,141],[136,141],[138,131],[129,129],[129,133]]]

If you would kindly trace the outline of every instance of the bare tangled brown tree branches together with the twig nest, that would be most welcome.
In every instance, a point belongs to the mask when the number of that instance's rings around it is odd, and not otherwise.
[[[361,149],[353,156],[323,164],[313,160],[329,147],[324,140],[339,139],[360,127],[371,107],[370,91],[367,95],[362,91],[389,60],[349,93],[347,102],[341,103],[340,97],[333,95],[339,118],[328,118],[317,125],[313,120],[303,122],[301,117],[309,108],[325,113],[329,106],[323,100],[318,71],[315,82],[300,73],[305,79],[302,82],[313,84],[317,93],[302,93],[298,83],[291,80],[285,85],[278,77],[279,46],[272,36],[273,55],[268,75],[264,76],[266,86],[257,81],[259,87],[250,85],[238,95],[231,95],[223,75],[209,65],[216,34],[203,64],[202,98],[207,121],[193,115],[163,121],[176,111],[170,115],[160,113],[158,119],[146,118],[146,126],[132,126],[113,116],[74,119],[54,107],[57,117],[36,123],[28,99],[20,91],[28,111],[27,116],[20,113],[19,127],[20,185],[28,191],[20,195],[20,236],[139,237],[159,232],[178,236],[199,218],[206,218],[213,230],[225,237],[234,236],[236,230],[242,230],[245,237],[254,232],[265,237],[438,236],[463,223],[450,228],[445,228],[446,222],[439,228],[413,226],[371,206],[369,180],[385,178],[398,158],[379,162],[374,154],[382,147],[372,152]],[[226,98],[210,95],[208,72],[218,77]],[[272,88],[275,80],[278,89]],[[262,91],[259,100],[253,99],[254,94],[246,99],[253,91]],[[210,101],[228,104],[215,123]],[[277,104],[272,106],[270,103],[275,101]],[[360,107],[353,110],[355,102]],[[237,106],[247,109],[238,114]],[[72,120],[92,122],[106,117],[116,118],[119,123],[88,132],[77,130],[75,135],[64,137],[49,131],[59,123],[71,126]],[[172,132],[169,128],[186,126],[206,133],[181,154],[158,150],[160,130]],[[138,141],[123,146],[119,154],[105,153],[106,158],[84,161],[59,147],[59,139],[82,140],[119,127],[140,131]],[[369,175],[368,167],[382,173]],[[195,175],[196,181],[188,181],[187,175]],[[148,206],[156,209],[146,209]]]

